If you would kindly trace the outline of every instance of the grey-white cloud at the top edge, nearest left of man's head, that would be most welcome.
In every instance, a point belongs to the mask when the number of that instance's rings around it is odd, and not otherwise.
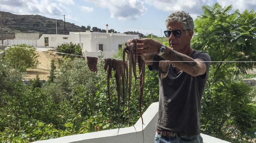
[[[147,12],[142,0],[85,0],[97,6],[108,8],[111,18],[119,20],[138,19]]]

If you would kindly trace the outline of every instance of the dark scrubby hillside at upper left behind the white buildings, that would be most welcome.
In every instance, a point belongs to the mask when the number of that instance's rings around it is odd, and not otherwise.
[[[56,34],[56,19],[46,18],[41,15],[17,15],[10,12],[0,13],[3,19],[3,28],[5,28],[3,34],[5,35],[12,35],[15,32]],[[85,29],[73,23],[66,22],[65,25],[66,34],[69,34],[67,31],[85,31]],[[64,34],[63,20],[57,20],[57,30],[58,34]]]

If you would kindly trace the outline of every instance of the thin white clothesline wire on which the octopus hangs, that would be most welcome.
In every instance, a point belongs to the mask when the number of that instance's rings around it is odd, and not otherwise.
[[[10,46],[10,47],[18,47],[18,46],[11,46],[11,45],[5,45],[5,44],[0,44],[0,45]],[[18,47],[18,48],[30,49],[30,48],[25,48],[25,47]],[[40,52],[53,52],[53,51],[40,51]],[[67,54],[67,53],[62,53],[62,52],[54,52],[54,53],[85,57],[85,56],[81,56],[81,55]],[[104,60],[103,58],[98,58],[98,59]],[[117,59],[117,60],[119,60],[119,59]],[[159,62],[159,61],[145,61],[145,62]],[[219,63],[248,63],[248,62],[253,62],[253,63],[255,63],[256,61],[170,61],[170,62],[213,62],[213,63],[217,63],[217,62],[219,62]]]

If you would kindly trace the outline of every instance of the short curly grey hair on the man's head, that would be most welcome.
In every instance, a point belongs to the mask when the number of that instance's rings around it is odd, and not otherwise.
[[[175,11],[166,18],[166,27],[170,23],[180,22],[182,23],[183,30],[194,30],[194,21],[188,12]],[[186,31],[187,33],[187,31]]]

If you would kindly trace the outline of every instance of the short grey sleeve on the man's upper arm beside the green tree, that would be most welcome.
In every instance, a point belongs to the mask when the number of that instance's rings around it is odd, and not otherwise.
[[[202,61],[211,61],[211,57],[206,52],[200,52],[196,56],[196,59],[199,59]],[[203,75],[200,75],[201,79],[205,79],[208,77],[211,62],[204,62],[204,64],[206,66],[206,72]]]

